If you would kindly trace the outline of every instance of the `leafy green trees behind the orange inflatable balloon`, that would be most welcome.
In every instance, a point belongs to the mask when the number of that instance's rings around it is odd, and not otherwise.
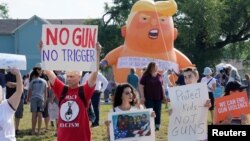
[[[116,29],[124,25],[136,1],[114,0],[111,7],[105,4],[106,14],[102,19],[104,29],[109,25],[116,25]],[[178,12],[174,15],[174,23],[179,35],[175,47],[186,54],[199,70],[204,66],[216,64],[225,52],[230,51],[228,47],[240,52],[239,43],[249,46],[250,1],[176,0],[176,2]]]

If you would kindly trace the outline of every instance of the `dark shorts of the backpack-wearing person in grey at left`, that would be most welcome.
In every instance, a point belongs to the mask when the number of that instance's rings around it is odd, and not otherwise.
[[[44,111],[44,101],[40,98],[34,97],[30,100],[30,111],[33,112],[43,112]]]

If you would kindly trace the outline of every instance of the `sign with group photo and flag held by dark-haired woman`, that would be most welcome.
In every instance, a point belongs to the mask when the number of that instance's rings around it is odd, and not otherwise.
[[[112,141],[155,141],[152,109],[109,113]]]

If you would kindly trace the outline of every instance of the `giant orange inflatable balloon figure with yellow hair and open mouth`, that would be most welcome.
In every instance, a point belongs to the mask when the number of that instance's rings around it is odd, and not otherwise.
[[[177,29],[172,15],[177,11],[174,0],[137,1],[122,27],[124,44],[110,51],[102,66],[112,66],[115,81],[126,82],[130,68],[142,69],[149,62],[156,62],[160,70],[193,66],[191,61],[174,48]]]

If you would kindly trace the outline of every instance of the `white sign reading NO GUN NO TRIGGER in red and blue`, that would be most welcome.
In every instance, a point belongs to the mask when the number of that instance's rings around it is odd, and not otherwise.
[[[43,25],[43,69],[96,71],[97,33],[94,25]]]

